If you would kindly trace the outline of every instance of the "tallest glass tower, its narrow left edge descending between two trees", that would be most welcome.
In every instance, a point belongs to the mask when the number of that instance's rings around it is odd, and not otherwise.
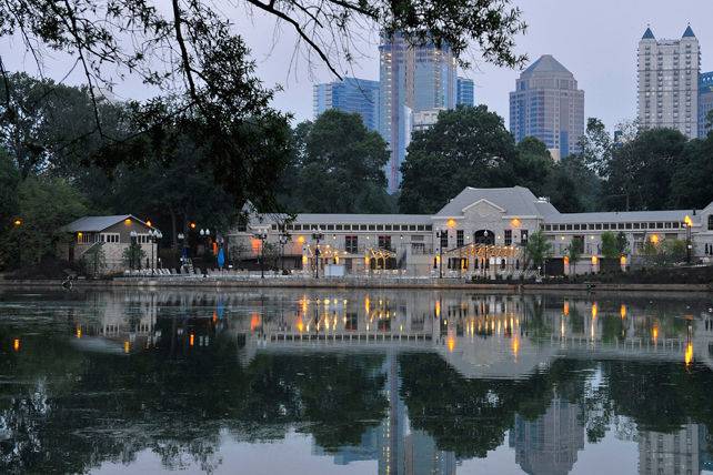
[[[389,191],[401,182],[413,112],[455,107],[455,59],[449,48],[410,46],[401,34],[382,39],[380,54],[379,131],[391,149],[386,165]]]

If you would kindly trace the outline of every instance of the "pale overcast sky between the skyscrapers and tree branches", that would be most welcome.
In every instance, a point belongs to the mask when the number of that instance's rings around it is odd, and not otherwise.
[[[240,1],[237,0],[240,4]],[[702,50],[702,71],[713,70],[712,0],[514,0],[523,10],[529,29],[518,37],[518,51],[531,61],[541,54],[553,54],[568,68],[585,91],[585,114],[604,120],[611,129],[621,120],[636,113],[636,44],[646,24],[656,38],[681,38],[690,22]],[[312,118],[312,84],[334,78],[327,68],[317,63],[308,68],[300,60],[290,68],[294,34],[282,27],[279,41],[272,41],[274,20],[255,17],[247,19],[244,9],[235,8],[237,29],[245,38],[258,63],[258,74],[265,85],[281,85],[274,107],[292,112],[297,120]],[[33,72],[32,60],[19,53],[18,41],[0,43],[0,53],[9,69]],[[379,54],[375,36],[361,48],[366,53],[354,64],[354,75],[379,79]],[[475,53],[472,53],[473,55]],[[478,59],[474,55],[474,59]],[[66,64],[72,61],[58,58],[49,63],[49,73],[61,78]],[[519,72],[479,62],[478,68],[462,71],[475,82],[475,100],[488,105],[508,120],[508,93],[513,89]],[[80,81],[78,73],[68,82]],[[152,91],[139,81],[128,80],[117,88],[123,98],[144,99]]]

